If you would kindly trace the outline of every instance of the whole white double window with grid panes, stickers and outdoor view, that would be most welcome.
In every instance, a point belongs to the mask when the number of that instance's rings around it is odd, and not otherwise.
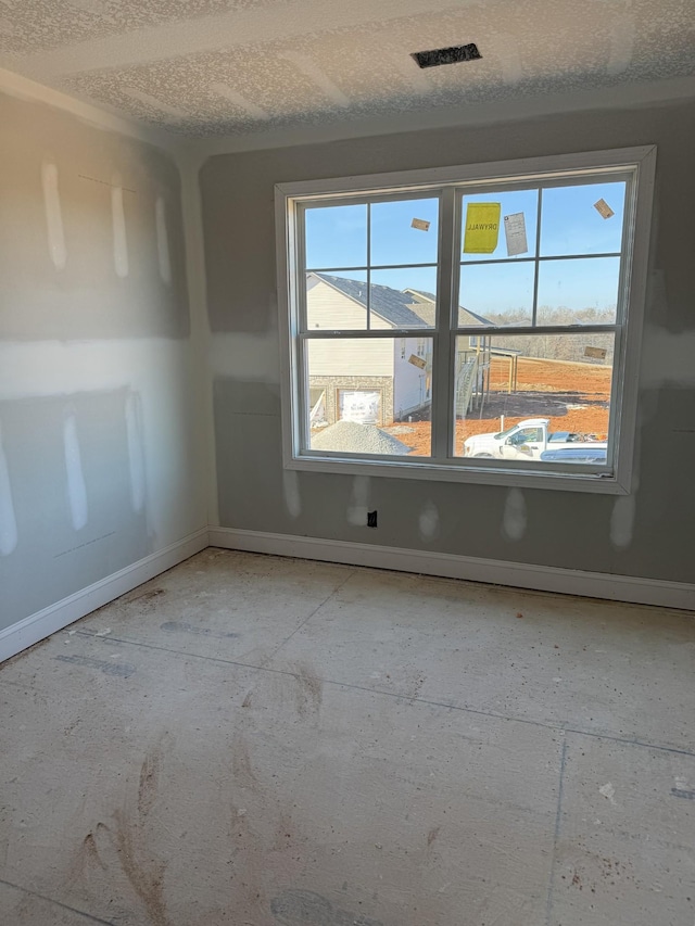
[[[278,186],[286,467],[629,492],[655,158]]]

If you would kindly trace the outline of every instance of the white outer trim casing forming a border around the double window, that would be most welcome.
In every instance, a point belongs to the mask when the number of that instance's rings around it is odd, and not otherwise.
[[[331,194],[345,196],[389,190],[393,192],[421,193],[422,188],[454,186],[496,180],[522,181],[534,179],[539,174],[551,177],[569,170],[594,170],[596,168],[635,169],[633,185],[634,213],[631,240],[626,243],[624,272],[627,286],[627,324],[624,337],[617,344],[620,352],[615,369],[620,370],[621,382],[617,385],[620,394],[620,416],[614,422],[614,473],[592,474],[582,470],[578,474],[568,465],[567,471],[559,471],[556,465],[543,472],[543,464],[529,472],[515,469],[514,465],[501,467],[500,461],[470,458],[466,462],[440,461],[418,457],[368,457],[351,458],[336,455],[327,456],[317,452],[305,452],[301,456],[298,403],[298,370],[295,351],[296,313],[293,308],[293,292],[296,286],[296,249],[301,242],[295,240],[294,201],[312,196],[326,198]],[[431,169],[407,170],[367,176],[339,177],[329,180],[303,180],[291,183],[278,183],[275,187],[276,245],[277,245],[277,286],[278,314],[280,331],[280,373],[282,401],[282,461],[286,469],[308,472],[337,472],[350,475],[386,475],[395,479],[424,479],[446,482],[469,482],[488,485],[538,487],[571,492],[595,492],[611,495],[627,495],[631,491],[634,462],[634,434],[637,414],[639,373],[646,297],[648,250],[652,226],[652,203],[656,173],[656,145],[624,148],[610,151],[592,151],[580,154],[565,154],[548,157],[531,157],[520,161],[502,161],[489,164],[469,164],[458,167],[435,167]],[[627,204],[628,206],[628,204]],[[442,220],[447,220],[443,216]],[[452,255],[440,254],[440,266],[451,263]],[[448,267],[445,268],[448,270]],[[352,333],[352,332],[351,332]],[[397,334],[396,334],[397,337]],[[440,358],[442,363],[446,358]],[[618,358],[616,358],[618,359]],[[576,465],[574,465],[576,466]]]

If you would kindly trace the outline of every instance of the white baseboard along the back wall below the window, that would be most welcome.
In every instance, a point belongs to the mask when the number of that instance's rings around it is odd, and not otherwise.
[[[587,598],[608,598],[636,605],[695,610],[695,585],[660,579],[582,572],[551,566],[532,566],[447,553],[426,553],[400,547],[327,541],[320,537],[238,531],[231,528],[211,528],[210,545],[226,549],[318,559],[325,562],[344,562],[351,566],[371,566],[400,572],[441,575],[446,579],[465,579],[493,585],[556,592],[563,595],[582,595]]]

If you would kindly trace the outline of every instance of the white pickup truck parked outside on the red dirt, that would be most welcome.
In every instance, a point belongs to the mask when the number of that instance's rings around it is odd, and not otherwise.
[[[536,460],[545,451],[564,447],[595,447],[596,449],[606,447],[605,442],[596,441],[587,434],[572,434],[569,431],[548,434],[548,424],[547,418],[528,418],[497,434],[475,434],[464,442],[464,456]]]

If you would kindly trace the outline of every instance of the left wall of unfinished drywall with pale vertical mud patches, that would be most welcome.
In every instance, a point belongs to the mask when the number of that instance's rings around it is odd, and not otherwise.
[[[0,94],[0,631],[204,527],[180,179]]]

